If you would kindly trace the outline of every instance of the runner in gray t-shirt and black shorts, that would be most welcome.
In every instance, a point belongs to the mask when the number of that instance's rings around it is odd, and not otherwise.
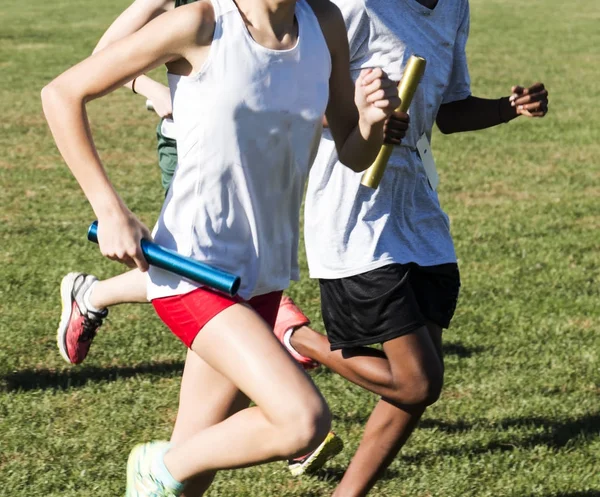
[[[431,140],[434,123],[454,133],[519,115],[542,117],[548,93],[535,84],[495,100],[471,96],[467,0],[334,1],[346,22],[354,77],[379,66],[400,79],[413,53],[428,62],[410,126],[378,189],[339,167],[324,134],[304,222],[327,337],[304,326],[308,319],[285,298],[275,330],[297,359],[319,361],[381,396],[334,493],[348,497],[369,491],[443,383],[442,329],[452,319],[460,277],[448,218],[432,188],[435,175],[426,173],[417,142]],[[378,343],[383,351],[368,347]]]

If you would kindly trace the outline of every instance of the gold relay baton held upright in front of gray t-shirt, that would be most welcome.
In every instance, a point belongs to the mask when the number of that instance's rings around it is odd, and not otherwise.
[[[408,63],[404,69],[404,75],[398,84],[398,96],[400,97],[401,102],[400,107],[396,109],[397,111],[408,112],[412,98],[415,95],[415,91],[417,91],[419,81],[421,81],[423,73],[425,72],[426,64],[427,61],[418,55],[411,55],[410,59],[408,59]],[[381,181],[383,173],[385,172],[385,167],[387,166],[387,161],[392,155],[392,150],[394,150],[393,145],[387,143],[383,144],[373,165],[364,172],[361,184],[368,186],[369,188],[377,188],[379,186],[379,182]]]

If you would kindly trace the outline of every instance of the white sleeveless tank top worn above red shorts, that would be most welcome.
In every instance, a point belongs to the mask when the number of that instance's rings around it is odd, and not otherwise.
[[[232,0],[212,0],[215,32],[202,69],[169,74],[178,167],[157,243],[241,277],[248,299],[298,279],[299,213],[321,135],[331,60],[319,22],[296,4],[297,44],[271,50]],[[199,285],[154,267],[150,300]]]

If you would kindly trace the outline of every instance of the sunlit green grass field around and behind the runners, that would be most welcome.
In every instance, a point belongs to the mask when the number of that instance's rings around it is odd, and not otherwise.
[[[122,268],[85,241],[93,214],[53,145],[39,91],[126,4],[31,0],[0,10],[6,497],[123,495],[131,446],[168,437],[176,413],[184,349],[149,306],[115,309],[83,366],[64,364],[54,341],[64,273]],[[371,495],[600,496],[600,5],[472,0],[471,11],[474,93],[542,80],[551,112],[435,136],[463,274],[446,387]],[[151,225],[162,201],[155,117],[128,91],[90,108],[111,178]],[[304,279],[291,295],[322,329],[315,283]],[[314,379],[346,441],[340,457],[309,479],[290,478],[282,463],[226,472],[211,496],[331,493],[376,399],[329,371]]]

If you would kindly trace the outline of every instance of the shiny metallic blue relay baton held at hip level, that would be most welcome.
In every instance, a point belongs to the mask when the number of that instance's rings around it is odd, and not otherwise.
[[[88,240],[98,243],[98,221],[94,221],[90,225]],[[171,271],[229,295],[235,295],[240,287],[239,276],[207,266],[148,240],[142,240],[141,246],[144,257],[153,266]]]

